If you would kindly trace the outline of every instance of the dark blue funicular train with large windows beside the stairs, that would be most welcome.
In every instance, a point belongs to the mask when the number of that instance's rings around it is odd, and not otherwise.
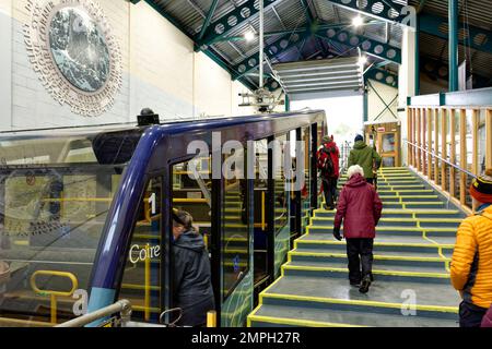
[[[218,325],[244,326],[318,205],[324,134],[324,111],[0,133],[0,326],[52,326],[118,299],[136,322],[172,323],[175,208],[207,242]],[[285,190],[274,157],[301,144],[304,185]],[[212,176],[238,157],[253,178]]]

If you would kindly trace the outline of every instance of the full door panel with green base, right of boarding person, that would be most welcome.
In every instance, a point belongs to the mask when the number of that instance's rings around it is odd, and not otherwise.
[[[247,154],[236,148],[222,155],[220,195],[215,196],[220,230],[214,230],[214,245],[221,251],[216,291],[223,327],[244,326],[253,311],[253,181],[247,176]]]

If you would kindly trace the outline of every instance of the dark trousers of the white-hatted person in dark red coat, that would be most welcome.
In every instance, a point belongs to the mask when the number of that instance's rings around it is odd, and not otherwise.
[[[372,276],[373,242],[374,239],[347,239],[349,279],[351,284],[361,282],[366,275]]]

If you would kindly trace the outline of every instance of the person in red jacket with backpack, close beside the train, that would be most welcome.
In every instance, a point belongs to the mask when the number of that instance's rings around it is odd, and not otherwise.
[[[324,136],[323,145],[316,153],[317,167],[320,170],[321,188],[325,195],[325,209],[335,208],[335,197],[337,196],[338,177],[340,174],[340,151],[333,136]]]

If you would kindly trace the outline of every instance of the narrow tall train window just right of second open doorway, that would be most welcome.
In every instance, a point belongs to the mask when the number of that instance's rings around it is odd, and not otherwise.
[[[290,152],[289,144],[286,143],[286,134],[277,136],[276,139],[277,151],[273,151],[276,157],[273,165],[273,181],[274,181],[274,231],[279,234],[289,221],[288,209],[288,191],[285,185],[285,169],[284,157],[285,152]]]

